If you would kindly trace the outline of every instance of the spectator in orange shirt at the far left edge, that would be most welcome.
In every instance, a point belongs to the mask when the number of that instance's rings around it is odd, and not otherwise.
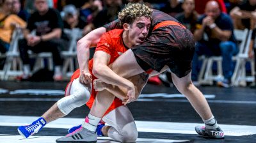
[[[15,27],[26,27],[26,22],[17,15],[11,15],[12,0],[4,0],[0,6],[0,52],[9,50]]]

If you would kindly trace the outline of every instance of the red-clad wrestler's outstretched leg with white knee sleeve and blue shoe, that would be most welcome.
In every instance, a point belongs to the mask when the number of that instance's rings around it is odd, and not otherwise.
[[[20,135],[28,138],[30,135],[33,135],[41,130],[45,124],[60,117],[66,116],[76,107],[81,107],[88,101],[89,98],[90,92],[88,91],[88,87],[85,87],[79,82],[78,79],[75,79],[72,82],[70,96],[61,98],[61,100],[47,110],[42,117],[36,119],[36,121],[33,121],[33,123],[29,124],[28,126],[19,126],[18,131]]]

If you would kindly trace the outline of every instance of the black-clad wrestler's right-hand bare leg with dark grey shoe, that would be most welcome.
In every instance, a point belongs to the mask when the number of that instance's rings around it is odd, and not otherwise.
[[[188,98],[191,105],[196,112],[202,117],[205,126],[196,126],[195,130],[199,135],[212,137],[215,139],[223,139],[224,132],[214,116],[211,109],[204,97],[204,95],[192,84],[191,72],[185,77],[179,78],[172,73],[173,84],[177,87],[180,93],[184,94]]]

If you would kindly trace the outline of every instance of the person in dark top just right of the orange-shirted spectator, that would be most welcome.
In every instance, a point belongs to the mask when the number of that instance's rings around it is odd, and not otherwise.
[[[26,10],[21,10],[20,0],[12,0],[12,13],[28,22],[29,13]]]

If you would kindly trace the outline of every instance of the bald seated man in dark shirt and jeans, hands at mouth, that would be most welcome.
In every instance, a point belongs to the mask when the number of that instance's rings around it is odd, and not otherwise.
[[[238,53],[236,39],[233,33],[233,24],[230,17],[221,13],[216,1],[209,1],[205,6],[205,14],[198,19],[194,33],[196,42],[193,58],[193,80],[197,79],[198,56],[222,56],[222,68],[224,80],[218,82],[218,86],[230,86],[232,77],[232,56]],[[204,40],[204,33],[208,41]]]

